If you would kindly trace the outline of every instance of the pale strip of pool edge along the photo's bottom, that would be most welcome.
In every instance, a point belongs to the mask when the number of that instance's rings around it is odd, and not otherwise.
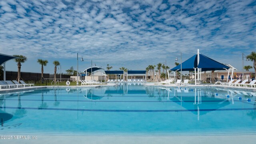
[[[50,136],[0,140],[8,144],[255,144],[256,135],[240,136]]]

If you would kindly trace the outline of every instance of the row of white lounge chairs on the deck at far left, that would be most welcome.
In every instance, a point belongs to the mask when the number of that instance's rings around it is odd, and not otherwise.
[[[3,81],[1,80],[0,81],[0,89],[2,88],[18,88],[19,86],[20,87],[25,87],[25,86],[31,86],[31,85],[34,85],[34,84],[26,84],[26,82],[24,82],[23,80],[20,80],[21,83],[19,83],[18,81],[16,80],[6,80],[6,81]]]

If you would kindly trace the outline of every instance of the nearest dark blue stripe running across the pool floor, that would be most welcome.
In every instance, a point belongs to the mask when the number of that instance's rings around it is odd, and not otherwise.
[[[197,109],[191,110],[97,110],[97,109],[76,109],[76,108],[30,108],[30,107],[3,107],[9,109],[26,110],[67,110],[67,111],[86,111],[86,112],[197,112]],[[223,108],[223,109],[200,109],[202,111],[230,111],[230,110],[256,110],[256,108]]]

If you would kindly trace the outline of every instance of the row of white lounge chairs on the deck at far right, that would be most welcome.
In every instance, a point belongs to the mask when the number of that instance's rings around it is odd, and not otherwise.
[[[230,80],[230,82],[220,82],[220,81],[217,81],[215,82],[215,84],[218,84],[220,83],[221,85],[224,85],[224,86],[244,86],[244,87],[247,87],[247,86],[254,86],[254,88],[256,87],[256,80],[253,80],[251,81],[249,84],[246,84],[246,82],[248,82],[248,80],[244,80],[241,82],[241,80],[236,80],[236,82],[234,82],[234,80]],[[241,82],[241,83],[239,83]]]

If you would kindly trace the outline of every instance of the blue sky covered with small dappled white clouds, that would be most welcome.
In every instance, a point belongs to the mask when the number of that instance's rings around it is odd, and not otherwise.
[[[78,71],[91,63],[173,68],[181,53],[184,61],[197,49],[242,70],[242,53],[256,51],[256,1],[0,0],[0,53],[26,56],[22,72],[40,73],[37,59],[48,60],[44,73],[54,73],[54,60],[62,73],[77,70],[77,53]],[[17,71],[14,60],[6,70]]]

